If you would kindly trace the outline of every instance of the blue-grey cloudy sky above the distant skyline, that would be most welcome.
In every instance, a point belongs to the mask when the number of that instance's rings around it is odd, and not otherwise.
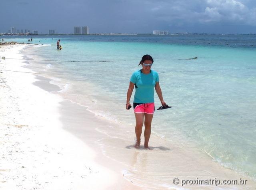
[[[0,32],[256,33],[256,0],[1,0]]]

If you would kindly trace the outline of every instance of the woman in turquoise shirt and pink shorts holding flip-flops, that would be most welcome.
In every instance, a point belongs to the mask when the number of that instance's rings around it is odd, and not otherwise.
[[[161,101],[162,106],[165,106],[162,91],[159,85],[158,73],[151,70],[154,60],[150,55],[144,55],[139,63],[142,69],[135,71],[130,78],[130,85],[127,91],[126,109],[130,109],[130,98],[135,86],[135,95],[133,101],[133,109],[136,119],[135,134],[136,144],[135,148],[140,148],[140,136],[142,133],[143,123],[144,130],[144,148],[148,148],[148,141],[151,134],[151,122],[155,110],[154,106],[154,88]],[[145,118],[145,119],[144,119]]]

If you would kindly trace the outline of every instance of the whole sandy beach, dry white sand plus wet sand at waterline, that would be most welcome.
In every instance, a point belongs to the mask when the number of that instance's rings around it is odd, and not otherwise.
[[[0,56],[22,59],[20,51],[31,46],[0,46]],[[124,134],[119,124],[55,93],[59,86],[27,66],[0,62],[0,189],[255,189],[256,182],[192,144],[152,135],[152,150],[134,149],[133,126]],[[175,178],[247,182],[182,186]]]

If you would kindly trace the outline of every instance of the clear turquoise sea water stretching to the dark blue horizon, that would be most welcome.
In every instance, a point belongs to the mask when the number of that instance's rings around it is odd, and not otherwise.
[[[63,88],[65,98],[126,125],[134,125],[134,115],[125,110],[130,76],[144,54],[152,55],[164,100],[172,106],[155,112],[153,133],[193,141],[213,161],[256,180],[256,35],[33,38],[48,45],[26,52],[28,58],[36,52],[46,60],[109,61],[36,63]],[[62,51],[56,50],[59,38]],[[160,106],[156,94],[155,104]]]

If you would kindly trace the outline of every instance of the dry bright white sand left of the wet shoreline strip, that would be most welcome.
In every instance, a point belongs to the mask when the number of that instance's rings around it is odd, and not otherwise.
[[[24,46],[1,46],[0,56],[22,58]],[[33,85],[24,65],[0,62],[0,189],[113,189],[121,174],[96,164],[95,153],[62,128],[63,99]]]

